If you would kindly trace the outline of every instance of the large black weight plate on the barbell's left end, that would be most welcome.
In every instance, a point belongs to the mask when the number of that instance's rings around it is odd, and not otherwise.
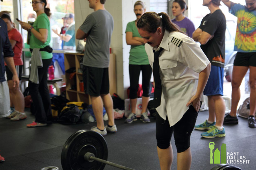
[[[79,130],[71,135],[61,152],[63,170],[103,170],[105,164],[86,161],[84,155],[91,152],[95,157],[107,160],[108,146],[104,137],[92,130]]]

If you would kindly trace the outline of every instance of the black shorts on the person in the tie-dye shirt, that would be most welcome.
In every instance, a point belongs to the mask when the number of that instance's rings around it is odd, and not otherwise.
[[[253,66],[256,67],[256,52],[254,53],[240,53],[236,54],[234,66]]]

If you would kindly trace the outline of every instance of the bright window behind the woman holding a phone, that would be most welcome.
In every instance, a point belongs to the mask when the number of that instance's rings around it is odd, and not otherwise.
[[[33,11],[32,5],[30,2],[32,0],[21,0],[22,1],[22,21],[34,22],[33,14],[36,16],[36,12]],[[57,32],[60,33],[61,27],[63,27],[63,17],[66,13],[74,14],[74,0],[47,0],[47,7],[51,10],[51,17],[50,17],[50,25],[51,29],[57,29]],[[23,31],[23,39],[25,43],[25,48],[29,48],[26,45],[27,42],[27,31]],[[50,46],[53,49],[62,49],[62,41],[61,38],[55,34],[51,30],[51,43]],[[75,49],[75,48],[74,48]]]

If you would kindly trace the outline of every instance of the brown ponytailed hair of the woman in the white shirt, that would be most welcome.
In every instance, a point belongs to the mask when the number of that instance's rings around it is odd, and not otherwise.
[[[179,27],[176,24],[173,24],[171,18],[168,14],[160,12],[146,12],[144,13],[139,21],[137,22],[137,27],[142,28],[149,33],[155,33],[158,27],[167,30],[168,32],[180,32]]]

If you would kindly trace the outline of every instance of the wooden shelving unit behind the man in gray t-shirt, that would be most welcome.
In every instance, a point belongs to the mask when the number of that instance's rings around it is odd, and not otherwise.
[[[84,54],[80,53],[65,53],[64,54],[64,63],[65,70],[68,70],[72,67],[76,68],[76,82],[75,79],[69,79],[69,73],[65,73],[66,77],[66,95],[67,99],[70,101],[83,101],[87,104],[91,104],[89,95],[85,94],[84,91],[80,91],[79,82],[83,80],[83,74],[78,73],[78,69],[80,68],[80,59]],[[108,67],[109,74],[109,93],[112,95],[116,93],[116,55],[110,54],[110,62]],[[76,90],[71,90],[72,86],[76,85]]]

